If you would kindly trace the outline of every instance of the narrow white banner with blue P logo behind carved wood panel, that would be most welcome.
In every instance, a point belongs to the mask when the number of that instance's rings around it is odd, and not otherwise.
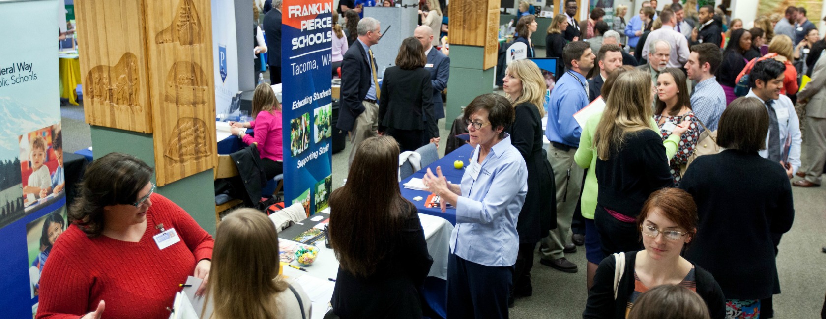
[[[225,120],[240,106],[240,99],[233,100],[238,94],[238,40],[235,36],[235,2],[212,0],[212,69],[215,73],[215,114],[220,120]]]

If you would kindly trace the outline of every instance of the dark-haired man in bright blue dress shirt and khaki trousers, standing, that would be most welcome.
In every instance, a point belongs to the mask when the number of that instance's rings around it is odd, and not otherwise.
[[[553,87],[548,105],[545,136],[551,142],[548,162],[551,162],[556,180],[557,228],[542,239],[542,259],[539,262],[568,273],[577,272],[577,265],[565,259],[565,251],[573,252],[577,249],[571,243],[571,221],[582,192],[582,176],[585,174],[573,162],[582,134],[582,128],[573,115],[590,101],[585,74],[594,68],[595,58],[591,45],[587,42],[575,41],[565,45],[563,62],[567,72],[563,73],[556,87]]]

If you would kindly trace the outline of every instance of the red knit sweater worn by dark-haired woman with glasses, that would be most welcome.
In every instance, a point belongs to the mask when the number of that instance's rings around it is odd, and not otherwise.
[[[175,228],[182,241],[158,249],[155,225]],[[152,195],[140,242],[106,236],[88,238],[76,225],[55,242],[40,277],[37,318],[78,318],[106,301],[103,318],[167,318],[175,293],[211,259],[213,240],[187,212],[162,195]]]

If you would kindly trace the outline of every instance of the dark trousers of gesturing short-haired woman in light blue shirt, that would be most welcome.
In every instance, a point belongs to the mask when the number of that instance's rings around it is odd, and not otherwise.
[[[507,318],[513,271],[513,266],[479,265],[450,254],[447,317]]]

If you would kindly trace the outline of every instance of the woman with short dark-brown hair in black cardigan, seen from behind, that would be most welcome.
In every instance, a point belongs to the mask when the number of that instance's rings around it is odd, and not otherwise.
[[[759,308],[760,299],[780,293],[776,245],[795,218],[791,186],[781,165],[757,154],[769,127],[762,101],[734,100],[718,127],[725,150],[697,157],[680,184],[694,196],[702,234],[686,258],[714,274],[731,306]]]

